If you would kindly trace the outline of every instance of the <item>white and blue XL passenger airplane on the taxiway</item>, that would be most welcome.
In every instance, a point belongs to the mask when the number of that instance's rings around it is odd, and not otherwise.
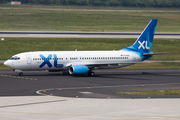
[[[23,75],[23,71],[48,70],[49,72],[69,71],[71,75],[94,76],[93,70],[120,68],[151,58],[157,19],[152,19],[135,43],[118,51],[35,51],[12,56],[4,62]]]

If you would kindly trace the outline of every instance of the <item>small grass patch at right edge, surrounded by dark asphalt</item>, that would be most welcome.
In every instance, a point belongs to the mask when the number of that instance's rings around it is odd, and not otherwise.
[[[174,90],[152,90],[152,91],[137,91],[137,92],[116,92],[121,95],[180,95],[180,89]]]

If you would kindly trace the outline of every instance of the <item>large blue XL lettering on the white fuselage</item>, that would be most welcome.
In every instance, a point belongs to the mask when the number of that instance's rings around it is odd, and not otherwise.
[[[52,58],[52,55],[51,55],[51,54],[49,54],[47,58],[44,57],[42,54],[40,54],[39,56],[42,58],[42,60],[44,60],[44,62],[39,66],[39,68],[44,67],[46,64],[47,64],[47,66],[48,66],[49,68],[52,67],[52,64],[49,62],[49,60],[51,60],[51,58]],[[54,54],[54,67],[56,67],[56,68],[62,68],[62,67],[63,67],[63,64],[57,64],[57,60],[58,60],[57,55]]]

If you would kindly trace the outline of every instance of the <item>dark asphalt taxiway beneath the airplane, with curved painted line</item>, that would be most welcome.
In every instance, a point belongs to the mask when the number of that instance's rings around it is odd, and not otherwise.
[[[96,70],[95,77],[0,70],[0,96],[52,95],[78,98],[180,98],[179,95],[120,95],[121,91],[180,89],[180,70]]]

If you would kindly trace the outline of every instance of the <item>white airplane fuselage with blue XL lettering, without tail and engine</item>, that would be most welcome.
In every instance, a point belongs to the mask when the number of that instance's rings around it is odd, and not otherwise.
[[[142,61],[127,51],[37,51],[14,55],[5,62],[16,70],[65,70],[71,65],[87,65],[94,69],[119,68]]]

